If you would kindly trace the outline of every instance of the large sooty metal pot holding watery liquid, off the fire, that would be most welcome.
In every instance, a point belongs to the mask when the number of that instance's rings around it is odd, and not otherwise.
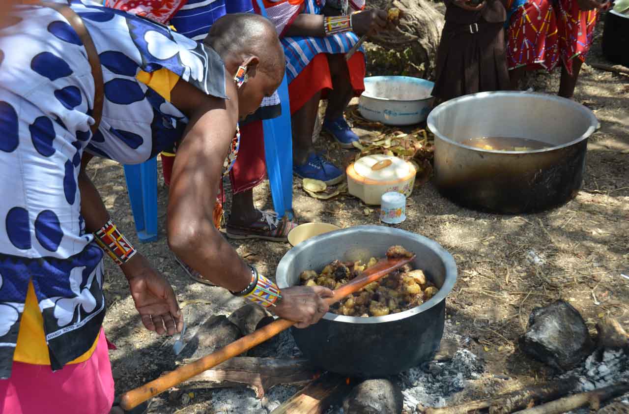
[[[598,127],[585,106],[529,92],[481,92],[440,104],[428,115],[435,134],[440,192],[470,208],[497,213],[542,211],[581,187],[587,138]],[[470,138],[516,137],[551,147],[485,150]]]

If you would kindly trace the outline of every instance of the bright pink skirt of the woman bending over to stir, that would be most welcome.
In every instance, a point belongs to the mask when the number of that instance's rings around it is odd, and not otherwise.
[[[105,334],[101,330],[94,354],[85,362],[50,366],[13,362],[11,378],[0,379],[1,414],[108,414],[114,401],[114,380]]]

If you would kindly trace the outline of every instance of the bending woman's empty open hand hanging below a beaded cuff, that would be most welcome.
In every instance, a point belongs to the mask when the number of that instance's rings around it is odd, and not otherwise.
[[[139,253],[121,266],[129,281],[135,308],[148,330],[162,335],[174,335],[184,327],[184,318],[179,310],[170,284]]]

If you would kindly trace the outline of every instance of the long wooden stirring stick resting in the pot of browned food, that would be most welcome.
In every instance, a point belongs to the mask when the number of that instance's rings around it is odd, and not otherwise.
[[[352,281],[336,289],[334,291],[334,295],[331,298],[326,298],[325,301],[328,305],[332,305],[340,299],[345,298],[345,296],[348,296],[355,291],[359,291],[367,286],[367,284],[377,281],[377,279],[380,279],[395,269],[404,266],[413,259],[415,259],[415,256],[382,260],[376,265],[369,267],[369,269],[364,271],[361,276],[355,277]],[[125,410],[131,410],[152,396],[160,394],[167,389],[186,381],[186,379],[201,374],[201,372],[213,368],[221,362],[227,361],[231,357],[240,355],[246,350],[252,349],[256,345],[262,344],[265,340],[274,337],[287,328],[290,328],[295,323],[296,322],[286,319],[278,319],[269,323],[269,325],[264,328],[260,328],[249,335],[235,340],[231,344],[213,352],[212,354],[201,357],[191,364],[181,366],[174,371],[170,371],[168,374],[161,376],[160,378],[153,379],[150,383],[131,389],[131,391],[122,394],[120,406]]]

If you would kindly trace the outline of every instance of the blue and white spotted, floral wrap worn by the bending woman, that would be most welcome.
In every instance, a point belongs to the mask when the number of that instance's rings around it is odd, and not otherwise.
[[[226,98],[225,68],[211,48],[117,10],[72,9],[103,67],[103,120],[93,137],[94,80],[65,18],[18,6],[0,27],[0,378],[11,374],[30,280],[53,370],[84,354],[99,333],[103,252],[84,230],[81,155],[143,162],[181,138],[187,122],[136,74],[166,68]]]

